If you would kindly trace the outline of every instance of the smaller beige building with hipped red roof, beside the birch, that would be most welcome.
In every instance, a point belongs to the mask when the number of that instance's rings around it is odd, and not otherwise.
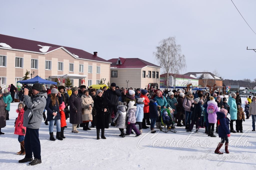
[[[110,82],[119,88],[159,88],[161,67],[139,58],[119,57],[108,61],[112,62]]]

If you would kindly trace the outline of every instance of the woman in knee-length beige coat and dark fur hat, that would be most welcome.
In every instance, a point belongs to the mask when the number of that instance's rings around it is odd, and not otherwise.
[[[94,104],[93,104],[93,99],[89,95],[88,90],[83,91],[81,101],[82,101],[81,104],[82,104],[83,123],[85,123],[85,125],[83,126],[83,130],[84,131],[91,130],[88,126],[89,126],[89,122],[92,121],[92,107],[94,106]]]

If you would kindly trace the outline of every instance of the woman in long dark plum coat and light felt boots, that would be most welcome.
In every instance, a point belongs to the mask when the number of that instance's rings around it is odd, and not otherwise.
[[[73,87],[72,94],[69,97],[68,103],[69,103],[69,123],[72,124],[72,132],[77,133],[79,132],[77,130],[77,124],[83,123],[82,119],[82,105],[81,105],[81,99],[77,95],[78,94],[78,88]]]

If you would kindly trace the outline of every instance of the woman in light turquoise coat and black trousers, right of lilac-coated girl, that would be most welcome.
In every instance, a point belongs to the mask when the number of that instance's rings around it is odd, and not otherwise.
[[[233,122],[237,120],[237,104],[236,104],[236,93],[232,93],[231,96],[228,98],[229,102],[229,114],[230,114],[230,132],[236,133],[233,128]]]

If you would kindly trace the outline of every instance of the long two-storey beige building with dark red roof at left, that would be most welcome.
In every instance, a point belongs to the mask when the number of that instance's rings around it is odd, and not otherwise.
[[[110,81],[110,63],[97,56],[76,48],[64,47],[0,34],[0,86],[22,80],[26,70],[34,73],[32,78],[55,81],[71,75],[74,86],[98,84],[100,79]],[[30,77],[30,75],[28,76]],[[74,79],[72,79],[74,77]]]

